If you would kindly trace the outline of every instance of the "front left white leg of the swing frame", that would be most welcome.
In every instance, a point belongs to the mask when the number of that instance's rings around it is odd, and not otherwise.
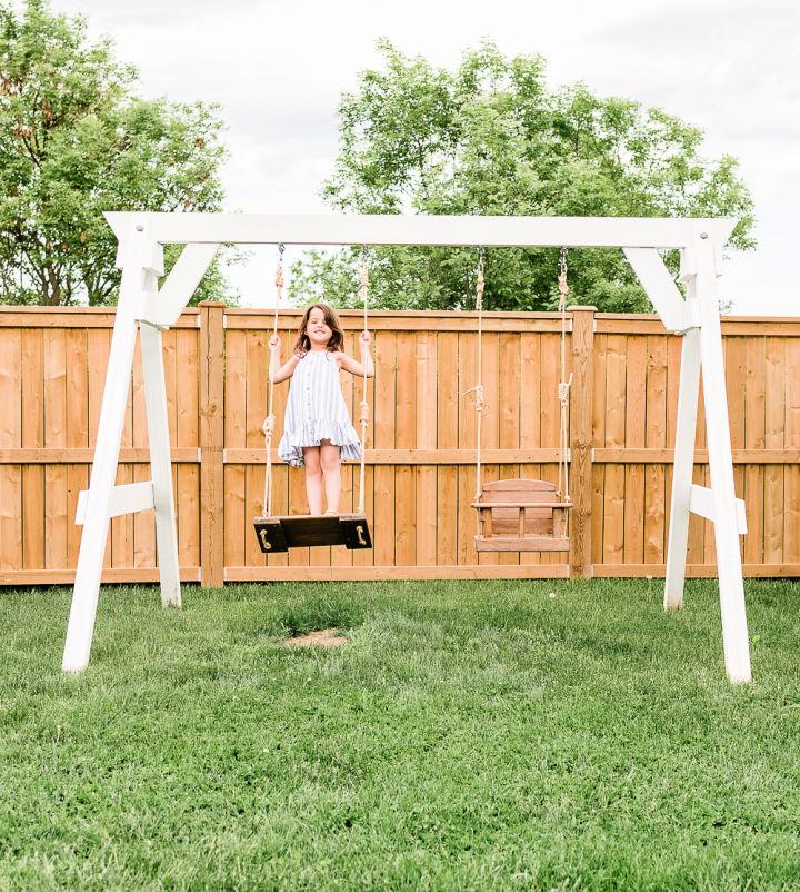
[[[143,224],[132,226],[118,251],[122,280],[67,626],[62,662],[66,672],[78,672],[89,664],[120,439],[133,368],[137,316],[147,294],[157,288],[157,276],[163,272],[162,262],[161,248],[150,240],[147,227]]]

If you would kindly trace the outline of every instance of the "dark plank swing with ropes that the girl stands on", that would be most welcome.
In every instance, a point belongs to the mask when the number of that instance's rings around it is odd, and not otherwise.
[[[369,296],[369,275],[367,271],[367,250],[361,250],[361,275],[359,296],[363,303],[363,324],[367,329],[367,300]],[[272,335],[278,334],[278,308],[283,290],[283,245],[278,246],[278,268],[276,270],[276,307]],[[264,554],[288,552],[313,545],[344,545],[347,548],[371,548],[369,524],[364,513],[364,453],[367,448],[367,426],[369,425],[369,404],[367,403],[367,374],[364,370],[361,403],[359,404],[361,424],[361,473],[359,477],[359,504],[352,514],[294,514],[274,516],[272,514],[272,435],[274,433],[274,381],[269,375],[269,405],[263,423],[267,448],[267,469],[264,474],[263,511],[261,517],[253,518],[259,546]]]

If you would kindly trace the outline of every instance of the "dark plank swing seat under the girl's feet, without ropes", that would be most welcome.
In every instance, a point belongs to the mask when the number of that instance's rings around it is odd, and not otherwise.
[[[364,514],[294,514],[253,518],[259,546],[264,554],[314,545],[371,548],[372,538]]]

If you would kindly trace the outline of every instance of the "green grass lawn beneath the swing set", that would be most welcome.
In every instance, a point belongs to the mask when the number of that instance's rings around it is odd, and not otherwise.
[[[800,889],[800,585],[0,594],[0,890]],[[553,596],[554,595],[554,596]],[[288,650],[338,626],[339,650]]]

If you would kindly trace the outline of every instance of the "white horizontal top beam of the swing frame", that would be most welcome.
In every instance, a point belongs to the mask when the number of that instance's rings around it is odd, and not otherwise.
[[[118,239],[142,227],[153,241],[239,245],[484,245],[487,247],[684,248],[708,232],[723,245],[736,220],[667,217],[470,217],[424,215],[106,215]],[[141,231],[141,230],[140,230]]]

